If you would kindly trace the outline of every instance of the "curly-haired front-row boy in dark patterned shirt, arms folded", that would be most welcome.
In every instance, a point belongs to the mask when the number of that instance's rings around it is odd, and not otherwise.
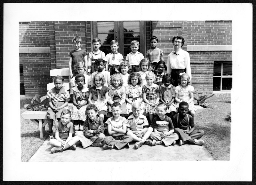
[[[84,136],[86,137],[87,146],[102,146],[104,141],[104,123],[103,119],[97,116],[98,109],[95,104],[86,107],[87,119],[84,122]],[[84,148],[85,148],[84,147]]]

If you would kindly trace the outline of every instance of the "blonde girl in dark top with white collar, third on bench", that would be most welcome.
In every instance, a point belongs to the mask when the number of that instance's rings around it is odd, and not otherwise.
[[[102,73],[96,73],[93,76],[92,83],[94,84],[94,86],[89,89],[90,90],[89,103],[96,105],[100,118],[104,120],[104,116],[107,116],[108,114],[107,103],[108,103],[109,88],[104,86],[104,84],[106,83],[106,80]]]

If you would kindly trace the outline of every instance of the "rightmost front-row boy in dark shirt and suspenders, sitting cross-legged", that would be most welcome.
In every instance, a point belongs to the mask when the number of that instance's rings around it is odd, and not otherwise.
[[[185,143],[196,145],[204,144],[204,141],[199,139],[204,135],[204,131],[195,130],[194,118],[188,114],[187,102],[180,102],[179,113],[172,117],[172,122],[174,125],[174,133],[177,133],[180,137],[180,145]]]

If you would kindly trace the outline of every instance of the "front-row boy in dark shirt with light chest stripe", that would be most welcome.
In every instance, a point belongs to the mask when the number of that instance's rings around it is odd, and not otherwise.
[[[152,127],[154,132],[151,133],[150,138],[153,139],[152,146],[164,143],[165,146],[175,145],[176,140],[179,139],[178,134],[173,132],[172,119],[166,116],[167,106],[163,103],[156,107],[157,117],[154,118]]]

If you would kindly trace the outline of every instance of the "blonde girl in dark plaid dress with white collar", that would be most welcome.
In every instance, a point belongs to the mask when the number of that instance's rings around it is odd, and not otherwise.
[[[159,104],[161,90],[154,84],[155,74],[149,72],[146,75],[147,84],[142,87],[142,97],[145,104],[145,114],[149,112],[150,125],[152,125],[154,115],[156,115],[156,106]]]

